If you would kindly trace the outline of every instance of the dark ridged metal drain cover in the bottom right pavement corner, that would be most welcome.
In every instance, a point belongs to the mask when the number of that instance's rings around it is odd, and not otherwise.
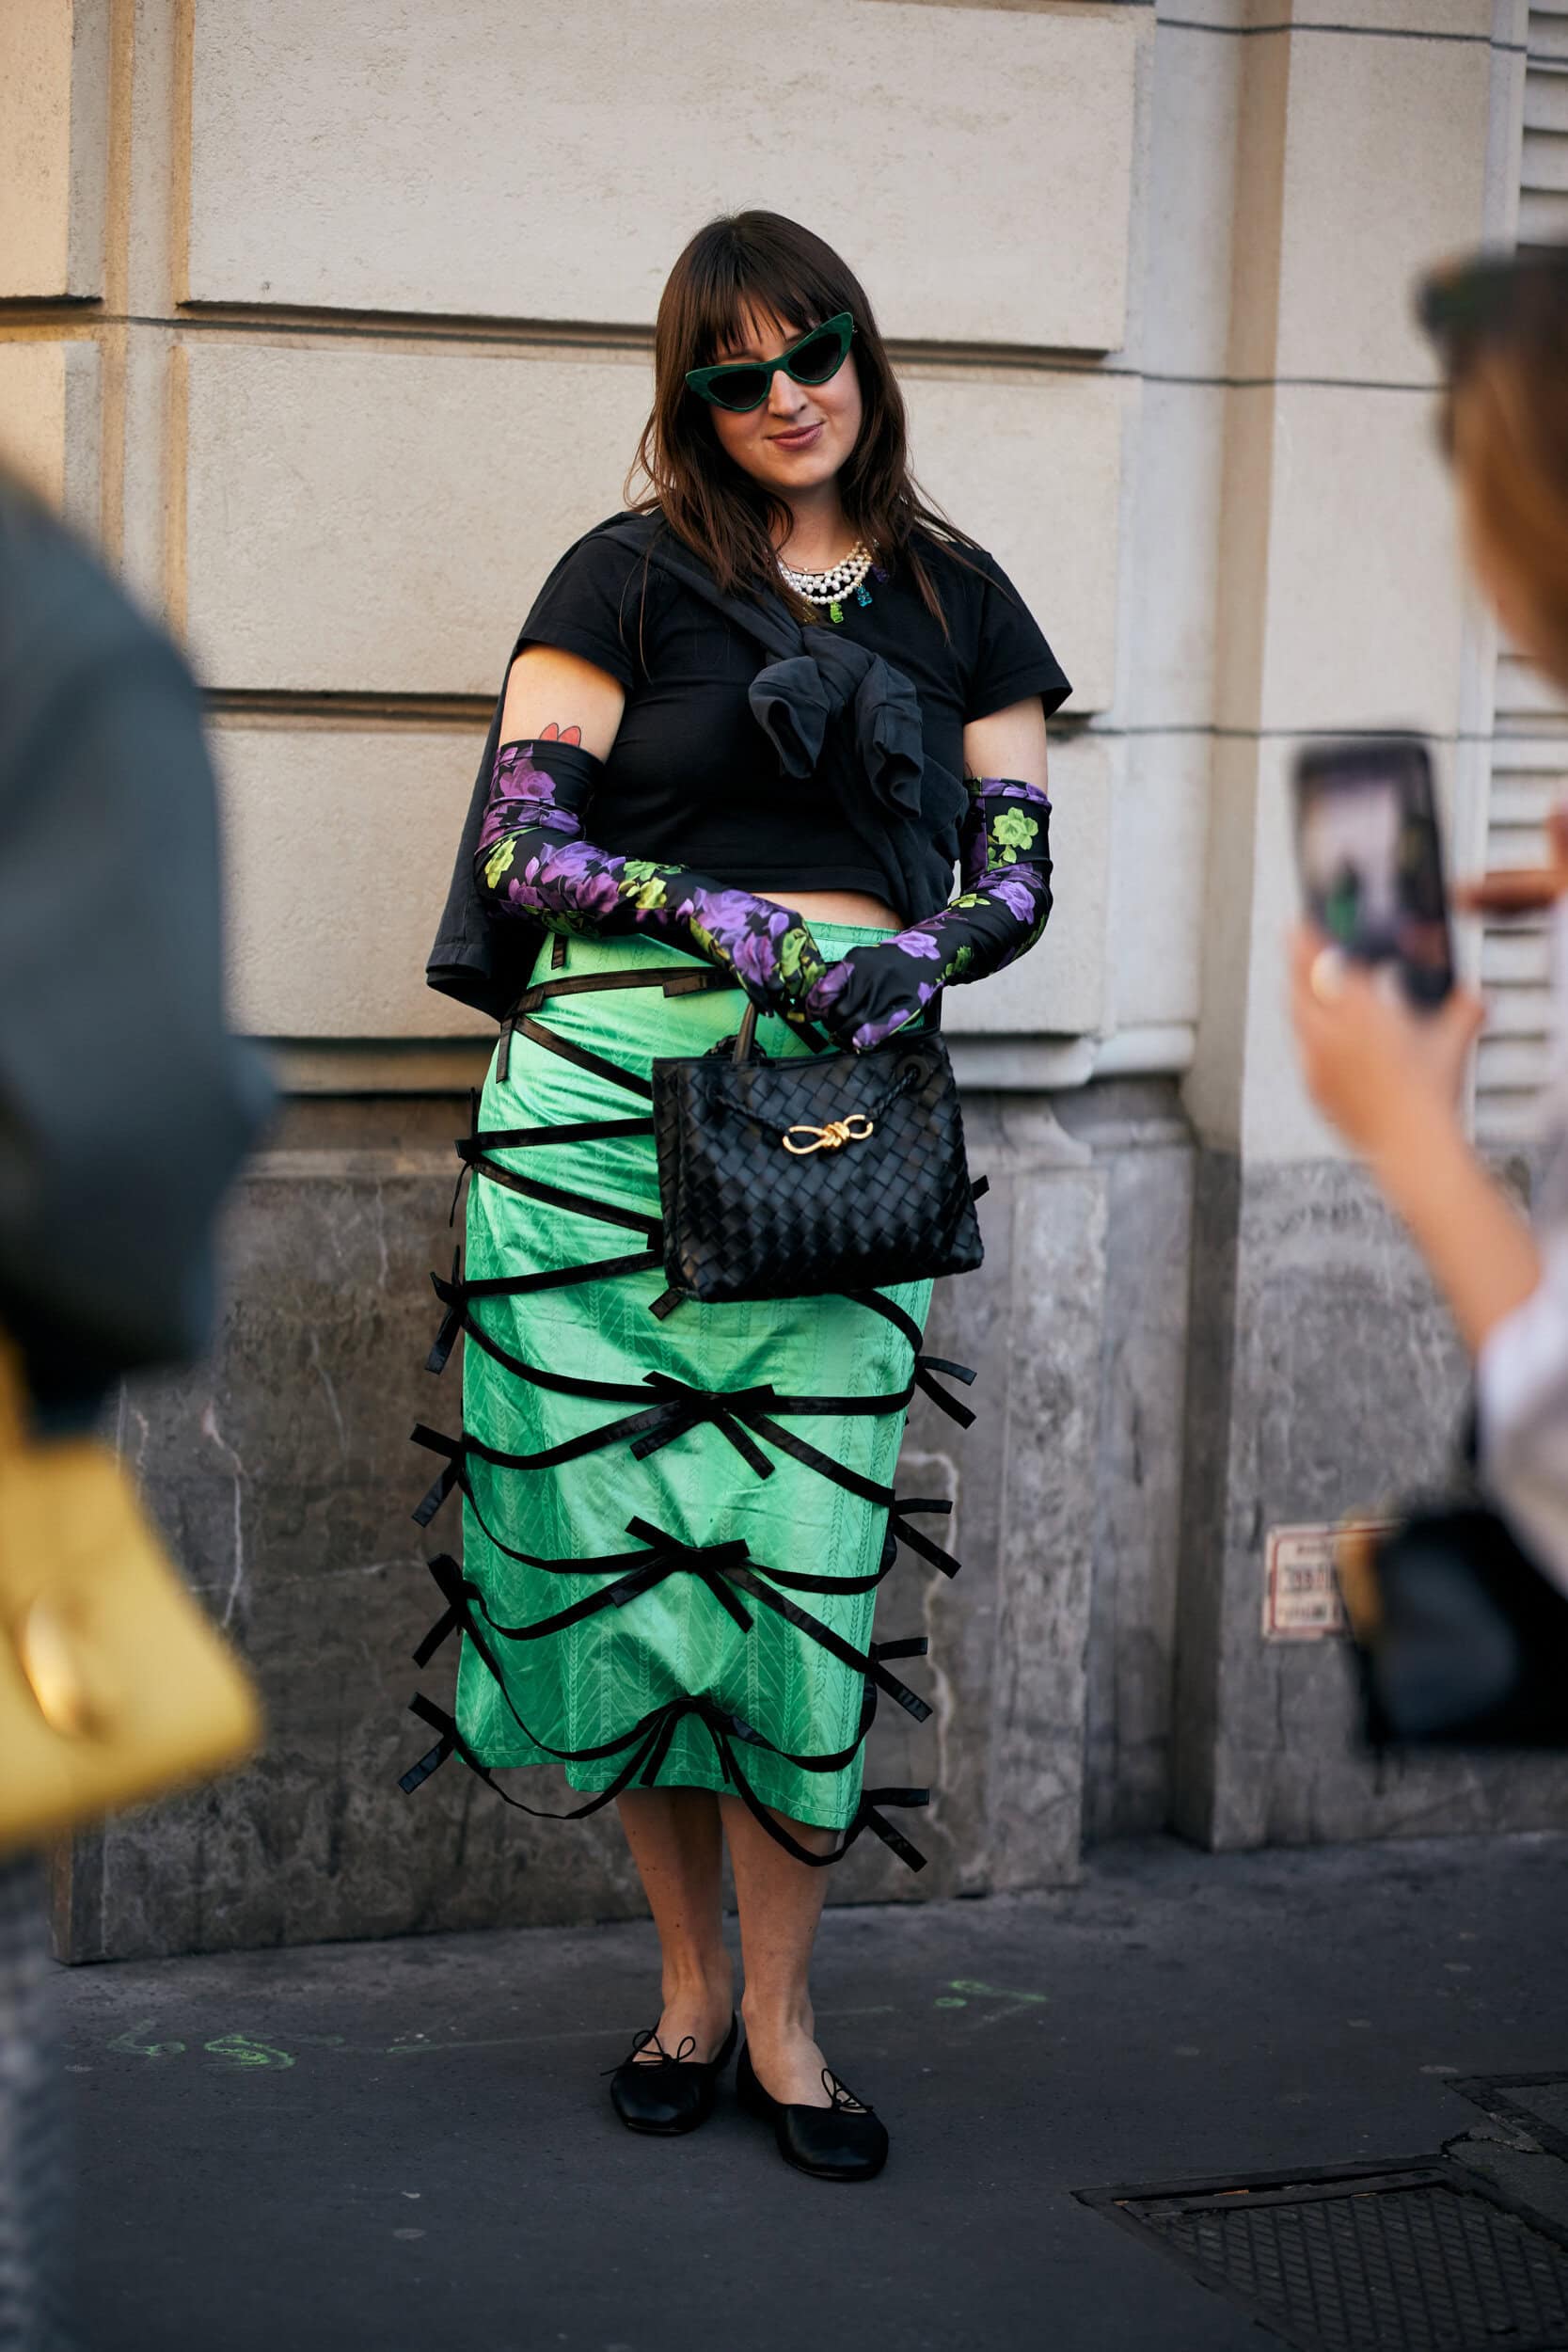
[[[1568,2347],[1568,2237],[1443,2157],[1079,2199],[1298,2352]]]

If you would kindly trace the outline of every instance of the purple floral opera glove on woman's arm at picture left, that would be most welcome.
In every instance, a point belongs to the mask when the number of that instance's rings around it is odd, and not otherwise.
[[[552,729],[501,746],[475,851],[487,903],[552,931],[658,931],[724,967],[762,1011],[802,1021],[827,974],[804,917],[686,866],[595,849],[581,818],[599,767]]]

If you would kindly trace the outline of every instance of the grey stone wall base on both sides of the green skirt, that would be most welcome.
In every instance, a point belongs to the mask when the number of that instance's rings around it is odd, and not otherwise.
[[[407,1700],[444,1703],[456,1663],[409,1658],[440,1611],[425,1555],[458,1538],[456,1503],[428,1536],[409,1519],[435,1468],[409,1428],[458,1425],[458,1359],[433,1381],[423,1357],[461,1127],[456,1101],[292,1105],[230,1209],[212,1362],[122,1399],[125,1454],[270,1733],[247,1773],[59,1856],[66,1957],[642,1910],[614,1811],[531,1820],[458,1759],[397,1790],[428,1745]],[[952,1496],[964,1573],[905,1557],[889,1578],[879,1630],[931,1635],[910,1679],[936,1715],[886,1708],[867,1759],[931,1785],[910,1818],[929,1867],[865,1837],[837,1900],[1063,1882],[1086,1811],[1117,1830],[1164,1804],[1192,1152],[1159,1089],[1077,1103],[1072,1131],[1044,1098],[973,1096],[969,1134],[987,1258],[940,1287],[929,1345],[978,1369],[980,1418],[959,1432],[919,1399],[900,1470]],[[548,1773],[510,1785],[574,1802]]]

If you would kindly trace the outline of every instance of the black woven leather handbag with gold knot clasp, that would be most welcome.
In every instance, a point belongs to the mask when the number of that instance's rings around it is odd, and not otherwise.
[[[938,1000],[940,1002],[940,1000]],[[865,1054],[654,1063],[661,1308],[964,1275],[983,1258],[959,1089],[936,1025]]]

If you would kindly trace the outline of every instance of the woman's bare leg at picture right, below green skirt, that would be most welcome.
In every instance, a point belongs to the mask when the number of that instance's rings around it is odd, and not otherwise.
[[[741,1957],[745,1994],[741,2016],[757,2082],[785,2107],[827,2107],[823,2086],[825,2058],[816,2046],[811,2011],[811,1945],[823,1915],[827,1872],[797,1863],[776,1846],[738,1797],[719,1797],[724,1835],[736,1870],[741,1905]],[[837,1830],[813,1830],[809,1823],[773,1813],[797,1846],[830,1853]]]

